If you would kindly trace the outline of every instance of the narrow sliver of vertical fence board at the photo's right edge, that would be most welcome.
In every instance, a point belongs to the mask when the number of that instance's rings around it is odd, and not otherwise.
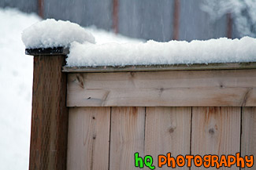
[[[256,107],[243,107],[242,110],[241,155],[256,155]]]

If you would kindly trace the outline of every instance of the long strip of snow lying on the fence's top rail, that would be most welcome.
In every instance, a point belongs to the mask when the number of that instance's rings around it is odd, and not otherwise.
[[[236,63],[256,61],[256,39],[210,39],[192,42],[106,43],[72,42],[69,67],[154,64]]]

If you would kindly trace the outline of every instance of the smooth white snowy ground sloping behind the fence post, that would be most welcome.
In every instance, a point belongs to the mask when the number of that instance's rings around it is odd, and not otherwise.
[[[28,169],[33,57],[24,55],[21,32],[38,22],[35,14],[0,9],[0,169]],[[88,27],[98,44],[139,42]]]

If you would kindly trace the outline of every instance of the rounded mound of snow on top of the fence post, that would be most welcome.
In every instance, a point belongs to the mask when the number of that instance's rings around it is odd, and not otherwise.
[[[69,21],[47,19],[23,31],[22,41],[27,49],[65,47],[71,42],[95,43],[91,33]]]

